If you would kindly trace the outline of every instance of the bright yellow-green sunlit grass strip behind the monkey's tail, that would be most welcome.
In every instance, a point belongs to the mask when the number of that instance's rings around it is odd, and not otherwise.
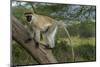
[[[57,43],[60,43],[63,41],[70,44],[68,38],[59,38],[57,40]],[[73,46],[78,46],[78,45],[82,45],[82,44],[91,44],[91,45],[95,46],[95,38],[94,37],[82,38],[79,36],[73,36],[73,37],[71,37],[71,43],[73,44]]]

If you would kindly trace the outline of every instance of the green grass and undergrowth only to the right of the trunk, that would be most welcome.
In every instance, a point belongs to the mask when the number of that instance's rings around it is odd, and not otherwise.
[[[71,37],[75,52],[75,61],[95,61],[96,45],[95,38]],[[59,38],[53,53],[59,62],[73,62],[71,44],[66,38]]]

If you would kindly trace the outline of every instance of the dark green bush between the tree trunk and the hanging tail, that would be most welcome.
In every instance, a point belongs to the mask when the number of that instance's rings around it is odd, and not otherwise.
[[[71,46],[67,45],[66,41],[56,42],[56,47],[53,49],[54,56],[58,62],[73,62]]]

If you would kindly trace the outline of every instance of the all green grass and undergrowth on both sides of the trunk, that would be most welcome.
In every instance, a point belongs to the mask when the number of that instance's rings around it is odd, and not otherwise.
[[[71,37],[75,52],[75,61],[95,61],[95,38]],[[58,62],[73,62],[71,45],[68,39],[60,38],[56,41],[53,54]],[[12,44],[13,64],[37,64],[37,62],[19,44]]]

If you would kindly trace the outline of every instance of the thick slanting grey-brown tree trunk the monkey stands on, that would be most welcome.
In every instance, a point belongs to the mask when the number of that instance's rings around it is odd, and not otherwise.
[[[25,42],[30,38],[27,29],[24,28],[24,25],[21,24],[15,17],[11,17],[12,21],[12,38],[17,41],[21,46],[23,46],[26,51],[39,63],[39,64],[48,64],[48,63],[57,63],[56,59],[52,54],[51,49],[46,49],[44,46],[39,48],[35,47],[34,40]]]

